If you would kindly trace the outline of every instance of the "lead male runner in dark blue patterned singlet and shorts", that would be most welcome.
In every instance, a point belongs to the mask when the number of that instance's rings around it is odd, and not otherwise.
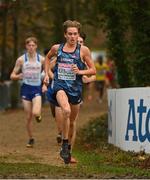
[[[77,43],[81,25],[67,20],[63,24],[66,42],[55,44],[45,59],[45,83],[49,81],[50,59],[57,56],[54,68],[53,89],[63,112],[63,143],[60,156],[65,163],[71,159],[72,136],[82,101],[82,76],[96,74],[90,50]],[[85,69],[85,63],[88,69]]]

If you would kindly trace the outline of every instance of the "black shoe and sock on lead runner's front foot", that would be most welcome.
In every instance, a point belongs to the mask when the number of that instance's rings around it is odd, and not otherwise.
[[[65,164],[70,163],[71,154],[70,150],[68,149],[68,143],[63,143],[61,150],[60,150],[60,157],[64,160]]]

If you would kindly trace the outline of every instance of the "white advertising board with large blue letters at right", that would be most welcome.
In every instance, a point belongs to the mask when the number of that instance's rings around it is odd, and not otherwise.
[[[150,153],[150,87],[108,90],[108,142]]]

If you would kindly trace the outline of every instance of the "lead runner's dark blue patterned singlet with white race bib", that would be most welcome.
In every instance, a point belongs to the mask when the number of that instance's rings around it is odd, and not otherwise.
[[[80,47],[77,44],[74,52],[64,52],[64,44],[60,44],[57,61],[54,68],[54,92],[64,90],[70,96],[82,95],[82,75],[75,74],[72,65],[76,64],[79,70],[85,69],[85,63],[80,57]]]

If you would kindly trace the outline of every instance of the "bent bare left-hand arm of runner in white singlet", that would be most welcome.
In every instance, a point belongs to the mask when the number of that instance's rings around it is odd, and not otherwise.
[[[18,58],[16,61],[16,64],[15,64],[15,67],[10,75],[11,80],[21,80],[22,79],[22,72],[19,73],[21,71],[22,64],[23,64],[23,60],[21,58]]]

